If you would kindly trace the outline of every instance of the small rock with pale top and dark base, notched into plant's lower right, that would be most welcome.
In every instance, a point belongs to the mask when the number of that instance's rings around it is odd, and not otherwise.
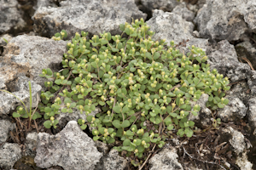
[[[196,102],[191,102],[192,107],[194,107],[195,104],[201,107],[201,111],[199,111],[197,116],[190,114],[188,117],[190,121],[195,122],[196,127],[208,127],[209,124],[211,124],[212,111],[207,108],[208,98],[208,94],[201,94],[200,99]]]

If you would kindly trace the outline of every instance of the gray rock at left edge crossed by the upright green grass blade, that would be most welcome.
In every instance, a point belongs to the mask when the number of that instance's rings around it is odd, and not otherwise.
[[[1,63],[0,63],[1,66]],[[9,68],[10,69],[10,68]],[[1,72],[1,71],[0,71]],[[12,77],[12,72],[9,72],[9,75],[3,75]],[[1,76],[0,76],[1,77]],[[7,90],[14,94],[17,98],[19,98],[26,105],[27,111],[29,111],[29,85],[28,82],[31,81],[25,75],[20,74],[20,77],[17,77],[12,82],[7,84]],[[38,94],[41,93],[41,86],[31,81],[32,83],[32,108],[35,108],[38,105],[38,101],[40,98]],[[0,92],[0,115],[9,114],[9,111],[15,110],[17,106],[21,105],[19,99],[16,99],[14,95],[1,91]],[[24,107],[24,106],[23,106]]]

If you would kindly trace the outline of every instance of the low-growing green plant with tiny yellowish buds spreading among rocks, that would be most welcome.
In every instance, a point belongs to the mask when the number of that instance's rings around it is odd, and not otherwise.
[[[119,28],[121,35],[104,32],[91,39],[77,32],[67,42],[63,70],[43,70],[41,77],[54,78],[45,82],[48,91],[41,94],[44,105],[39,108],[49,119],[45,127],[56,127],[55,115],[76,109],[87,115],[79,125],[92,127],[94,140],[122,141],[115,149],[141,158],[149,146],[162,147],[172,133],[193,135],[195,122],[188,116],[201,110],[193,105],[201,94],[209,95],[212,110],[228,104],[229,80],[216,69],[210,71],[204,50],[192,46],[185,55],[173,41],[168,47],[165,40],[152,40],[154,31],[143,19]],[[53,39],[67,37],[61,32]],[[96,107],[102,111],[89,116]]]

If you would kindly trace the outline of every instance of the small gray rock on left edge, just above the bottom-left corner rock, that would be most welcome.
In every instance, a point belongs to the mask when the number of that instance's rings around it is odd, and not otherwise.
[[[15,123],[9,122],[8,120],[0,120],[0,144],[6,142],[9,138],[9,131],[15,129]]]

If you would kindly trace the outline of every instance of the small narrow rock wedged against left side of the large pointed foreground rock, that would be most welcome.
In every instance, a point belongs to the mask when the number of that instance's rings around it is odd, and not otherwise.
[[[38,133],[28,133],[26,135],[26,156],[36,156],[36,149],[37,149],[37,142],[38,142]]]

